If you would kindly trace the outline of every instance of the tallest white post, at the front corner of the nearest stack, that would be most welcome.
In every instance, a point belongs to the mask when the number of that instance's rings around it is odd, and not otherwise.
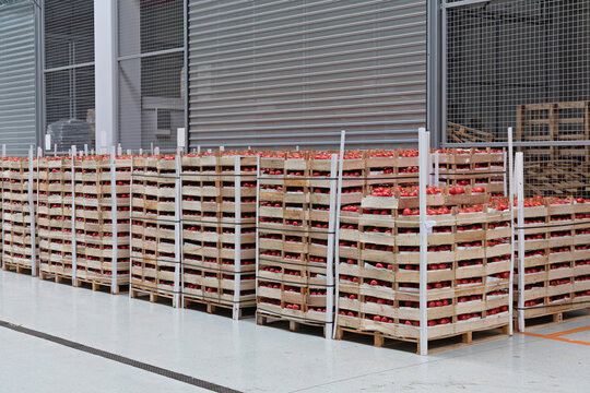
[[[428,355],[428,314],[426,284],[428,274],[428,234],[426,227],[426,183],[428,180],[429,145],[426,130],[418,131],[418,198],[420,198],[420,354]]]

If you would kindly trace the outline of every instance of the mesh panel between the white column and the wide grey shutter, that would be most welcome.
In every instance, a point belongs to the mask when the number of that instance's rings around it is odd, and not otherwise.
[[[120,0],[119,135],[125,148],[173,151],[185,127],[182,0]]]

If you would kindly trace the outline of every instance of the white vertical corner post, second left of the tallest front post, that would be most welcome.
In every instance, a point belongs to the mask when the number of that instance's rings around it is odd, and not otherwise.
[[[239,298],[241,291],[241,157],[234,157],[234,309],[232,318],[239,319]]]

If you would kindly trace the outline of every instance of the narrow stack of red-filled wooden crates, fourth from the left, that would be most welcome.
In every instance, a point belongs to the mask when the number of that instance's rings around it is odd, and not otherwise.
[[[131,296],[175,303],[180,296],[175,155],[133,157]]]

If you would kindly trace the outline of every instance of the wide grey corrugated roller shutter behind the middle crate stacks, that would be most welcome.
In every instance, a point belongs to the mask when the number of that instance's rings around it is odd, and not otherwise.
[[[426,1],[190,0],[190,146],[416,143]]]

